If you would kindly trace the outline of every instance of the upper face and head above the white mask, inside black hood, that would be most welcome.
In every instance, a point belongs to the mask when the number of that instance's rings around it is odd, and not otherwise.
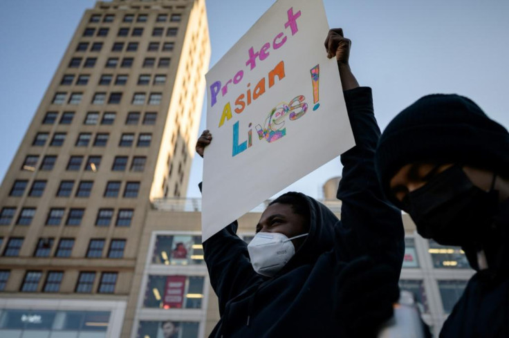
[[[257,224],[258,232],[279,232],[279,234],[292,238],[308,232],[308,220],[302,215],[295,214],[291,205],[274,203],[269,205],[261,214]],[[302,243],[304,243],[303,237],[293,240],[296,249]]]

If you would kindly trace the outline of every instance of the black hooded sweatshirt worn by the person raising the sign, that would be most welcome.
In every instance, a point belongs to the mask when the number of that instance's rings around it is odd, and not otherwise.
[[[342,220],[306,196],[309,234],[272,278],[252,269],[247,245],[236,234],[237,221],[207,239],[205,263],[221,314],[210,337],[339,337],[335,276],[358,256],[369,254],[390,265],[397,283],[404,232],[401,213],[385,200],[373,167],[380,130],[371,88],[344,91],[344,98],[356,146],[341,156],[337,198],[342,200]]]

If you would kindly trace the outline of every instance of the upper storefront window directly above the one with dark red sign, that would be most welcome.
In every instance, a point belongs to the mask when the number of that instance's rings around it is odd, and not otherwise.
[[[152,263],[165,265],[203,264],[201,236],[159,235],[156,238]]]

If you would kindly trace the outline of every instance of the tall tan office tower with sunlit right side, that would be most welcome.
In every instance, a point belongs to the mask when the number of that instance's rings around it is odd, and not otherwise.
[[[209,59],[204,0],[86,10],[1,185],[0,337],[136,337],[145,218],[185,194]]]

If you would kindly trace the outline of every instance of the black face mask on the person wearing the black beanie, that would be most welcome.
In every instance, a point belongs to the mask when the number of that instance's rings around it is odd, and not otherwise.
[[[453,165],[411,191],[402,203],[420,236],[443,245],[464,245],[482,236],[492,223],[498,191],[476,187],[459,165]]]

